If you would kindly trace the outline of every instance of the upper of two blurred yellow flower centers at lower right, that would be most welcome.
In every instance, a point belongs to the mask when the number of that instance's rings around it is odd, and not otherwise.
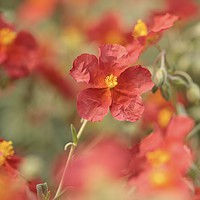
[[[149,152],[146,154],[146,157],[153,166],[160,166],[170,161],[170,154],[162,149]]]

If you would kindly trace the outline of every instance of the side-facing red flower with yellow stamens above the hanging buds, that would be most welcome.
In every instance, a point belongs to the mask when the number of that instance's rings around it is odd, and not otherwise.
[[[163,31],[171,28],[177,20],[177,16],[169,13],[153,16],[152,22],[149,24],[138,20],[132,32],[134,41],[138,40],[143,48],[154,44],[160,39]]]

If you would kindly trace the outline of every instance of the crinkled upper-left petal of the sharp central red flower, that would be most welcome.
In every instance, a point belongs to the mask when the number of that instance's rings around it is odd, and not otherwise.
[[[92,83],[97,75],[97,70],[97,57],[91,54],[81,54],[74,60],[70,74],[77,82]]]

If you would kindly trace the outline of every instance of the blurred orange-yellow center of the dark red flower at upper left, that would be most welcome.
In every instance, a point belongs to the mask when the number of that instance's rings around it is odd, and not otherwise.
[[[0,44],[9,45],[16,38],[16,33],[9,28],[0,29]]]

